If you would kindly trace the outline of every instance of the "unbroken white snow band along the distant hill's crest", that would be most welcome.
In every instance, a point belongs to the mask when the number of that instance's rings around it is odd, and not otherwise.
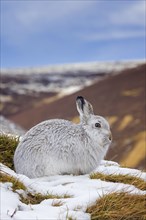
[[[73,63],[52,65],[44,67],[30,67],[30,68],[15,68],[15,69],[2,69],[2,74],[68,74],[73,73],[109,73],[111,71],[121,71],[126,68],[134,68],[137,65],[143,64],[144,60],[125,60],[125,61],[103,61],[103,62],[87,62],[87,63]]]

